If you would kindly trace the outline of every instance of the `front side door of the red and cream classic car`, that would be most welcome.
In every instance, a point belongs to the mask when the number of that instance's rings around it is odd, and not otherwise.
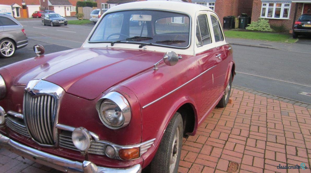
[[[219,95],[219,89],[214,85],[214,73],[216,73],[217,48],[212,38],[210,22],[207,11],[201,11],[196,19],[195,58],[200,66],[201,101],[199,108],[199,121],[212,109]]]

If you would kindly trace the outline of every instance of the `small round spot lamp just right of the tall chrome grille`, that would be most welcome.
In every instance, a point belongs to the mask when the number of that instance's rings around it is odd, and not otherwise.
[[[80,151],[86,151],[91,147],[92,136],[84,127],[77,127],[72,132],[72,142]]]

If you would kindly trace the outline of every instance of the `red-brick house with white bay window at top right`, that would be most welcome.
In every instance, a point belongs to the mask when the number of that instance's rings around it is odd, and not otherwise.
[[[269,24],[292,30],[300,15],[311,13],[311,0],[253,0],[252,21],[259,18],[269,20]]]

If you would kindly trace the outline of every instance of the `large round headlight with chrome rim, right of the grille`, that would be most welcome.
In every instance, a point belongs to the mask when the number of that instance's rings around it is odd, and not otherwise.
[[[126,98],[118,92],[109,92],[96,104],[101,122],[110,129],[127,126],[131,120],[131,109]]]

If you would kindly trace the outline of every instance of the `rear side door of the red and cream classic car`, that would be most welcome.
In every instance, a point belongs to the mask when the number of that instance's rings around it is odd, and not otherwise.
[[[218,16],[214,13],[209,11],[209,19],[211,22],[211,31],[213,35],[213,40],[215,41],[215,58],[216,64],[215,67],[216,72],[214,74],[214,85],[219,90],[219,94],[222,94],[224,91],[225,85],[225,78],[228,69],[228,63],[226,63],[227,59],[227,49],[228,44],[225,41],[225,37],[223,34],[222,27],[220,25],[220,21]]]

